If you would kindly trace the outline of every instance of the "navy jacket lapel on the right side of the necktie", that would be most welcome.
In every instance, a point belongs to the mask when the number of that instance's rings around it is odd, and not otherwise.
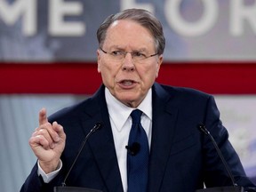
[[[172,94],[159,84],[153,86],[153,124],[149,162],[148,191],[159,191],[164,170],[172,148],[177,108],[172,105]]]

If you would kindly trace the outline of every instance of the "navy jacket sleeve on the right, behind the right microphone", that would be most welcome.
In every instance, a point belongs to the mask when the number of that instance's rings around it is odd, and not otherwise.
[[[228,140],[228,131],[220,121],[220,112],[216,103],[211,96],[208,100],[208,105],[205,111],[204,124],[206,125],[212,137],[216,140],[221,153],[228,166],[234,175],[235,181],[238,186],[253,186],[252,182],[248,180],[244,172],[243,165],[236,154],[235,149],[232,147]],[[220,156],[213,148],[213,143],[206,135],[202,136],[203,140],[203,154],[204,156],[204,183],[207,187],[227,186],[232,185],[228,173],[224,165],[220,162]]]

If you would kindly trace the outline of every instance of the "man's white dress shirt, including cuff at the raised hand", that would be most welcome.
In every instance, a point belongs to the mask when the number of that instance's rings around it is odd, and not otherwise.
[[[126,158],[127,149],[125,146],[128,144],[129,133],[132,128],[132,117],[130,114],[135,108],[129,108],[125,106],[119,100],[105,88],[105,96],[108,106],[108,114],[110,119],[110,124],[113,132],[114,143],[116,148],[116,157],[118,161],[119,170],[121,173],[121,179],[123,183],[124,192],[127,191],[127,170],[126,170]],[[141,115],[141,125],[144,128],[148,136],[148,145],[150,148],[151,134],[152,134],[152,90],[148,91],[148,94],[144,100],[138,106],[143,113]],[[44,182],[50,182],[59,172],[62,167],[62,162],[58,170],[46,174],[38,165],[38,175],[42,175]]]

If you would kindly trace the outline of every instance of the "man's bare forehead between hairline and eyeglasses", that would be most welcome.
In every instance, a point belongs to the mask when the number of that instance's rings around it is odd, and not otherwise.
[[[148,30],[133,20],[116,20],[108,28],[104,44],[128,48],[155,47],[154,37]]]

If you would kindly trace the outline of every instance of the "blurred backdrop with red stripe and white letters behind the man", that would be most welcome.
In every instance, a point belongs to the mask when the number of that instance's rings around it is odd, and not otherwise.
[[[156,81],[214,95],[256,182],[256,0],[0,0],[1,191],[19,191],[36,163],[28,139],[38,111],[51,115],[100,86],[96,30],[132,7],[164,26]]]

